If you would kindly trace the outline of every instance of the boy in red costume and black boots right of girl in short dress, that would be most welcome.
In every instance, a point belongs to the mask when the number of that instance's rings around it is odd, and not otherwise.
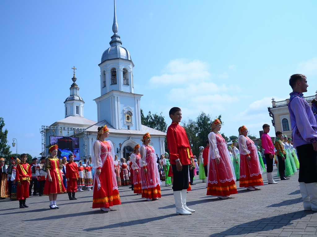
[[[79,177],[77,164],[74,162],[74,155],[68,155],[69,162],[66,164],[65,178],[68,182],[66,191],[69,200],[77,200],[75,192],[77,192],[77,180]]]

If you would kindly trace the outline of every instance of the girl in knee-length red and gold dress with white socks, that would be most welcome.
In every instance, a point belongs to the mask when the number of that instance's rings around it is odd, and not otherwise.
[[[47,172],[47,180],[44,186],[43,194],[49,196],[50,209],[59,209],[59,207],[56,205],[57,194],[66,191],[60,171],[63,165],[61,159],[56,157],[57,149],[57,145],[51,146],[49,148],[50,156],[45,160],[44,165]]]

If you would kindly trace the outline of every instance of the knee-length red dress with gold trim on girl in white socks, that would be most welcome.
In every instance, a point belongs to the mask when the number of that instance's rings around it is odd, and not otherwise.
[[[52,182],[49,182],[49,177],[47,177],[44,186],[44,195],[49,195],[51,193],[63,193],[66,191],[63,184],[63,177],[61,175],[61,168],[63,167],[61,159],[57,157],[49,156],[45,160],[45,169],[49,170],[52,177]]]

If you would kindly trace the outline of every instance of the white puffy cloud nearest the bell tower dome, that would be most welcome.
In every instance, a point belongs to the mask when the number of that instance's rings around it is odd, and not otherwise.
[[[206,81],[210,79],[207,63],[199,60],[188,62],[185,59],[172,60],[165,67],[165,74],[153,76],[150,83],[160,85],[187,84],[196,81]]]

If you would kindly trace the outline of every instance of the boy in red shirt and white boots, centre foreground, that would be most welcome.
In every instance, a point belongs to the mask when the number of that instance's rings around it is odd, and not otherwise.
[[[177,215],[191,215],[195,210],[186,206],[186,192],[188,188],[188,174],[191,164],[191,147],[188,142],[185,129],[179,125],[182,119],[182,111],[178,107],[171,108],[171,125],[167,129],[167,148],[170,151],[170,163],[173,170],[173,194]]]

